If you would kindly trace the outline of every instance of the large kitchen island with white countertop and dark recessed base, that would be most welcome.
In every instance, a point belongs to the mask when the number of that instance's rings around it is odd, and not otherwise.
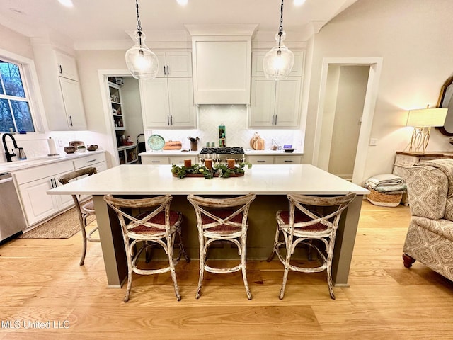
[[[356,193],[357,198],[343,214],[338,227],[332,270],[336,285],[348,285],[362,198],[369,191],[309,164],[253,165],[246,169],[244,176],[229,179],[178,179],[171,174],[171,165],[120,165],[47,191],[52,195],[93,195],[108,285],[115,287],[120,287],[126,278],[127,263],[117,216],[105,204],[105,194],[127,197],[171,194],[171,208],[183,212],[185,246],[195,259],[198,254],[196,219],[186,196],[190,193],[215,197],[255,193],[257,198],[249,212],[247,258],[266,259],[273,247],[275,212],[289,207],[287,193],[341,195],[348,192]]]

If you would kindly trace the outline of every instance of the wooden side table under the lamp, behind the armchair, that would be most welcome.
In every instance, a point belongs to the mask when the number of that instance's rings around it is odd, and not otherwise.
[[[397,151],[394,163],[393,174],[407,179],[407,169],[411,166],[423,161],[430,161],[431,159],[440,158],[453,158],[453,152],[448,151],[435,151],[435,152],[406,152]],[[403,205],[408,205],[407,193],[404,193],[401,200]]]

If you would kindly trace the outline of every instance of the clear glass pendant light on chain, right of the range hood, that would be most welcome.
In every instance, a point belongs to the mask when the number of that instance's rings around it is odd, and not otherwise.
[[[294,64],[294,54],[283,44],[286,33],[283,32],[283,0],[280,7],[280,28],[275,34],[276,45],[265,54],[263,69],[267,79],[286,79]]]

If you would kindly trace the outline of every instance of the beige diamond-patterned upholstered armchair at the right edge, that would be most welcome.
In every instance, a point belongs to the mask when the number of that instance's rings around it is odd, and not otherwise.
[[[411,222],[404,266],[420,261],[453,280],[453,159],[420,162],[408,169]]]

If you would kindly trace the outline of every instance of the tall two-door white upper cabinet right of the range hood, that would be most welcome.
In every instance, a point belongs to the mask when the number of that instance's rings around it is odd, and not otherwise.
[[[300,77],[252,78],[249,128],[299,128]]]

